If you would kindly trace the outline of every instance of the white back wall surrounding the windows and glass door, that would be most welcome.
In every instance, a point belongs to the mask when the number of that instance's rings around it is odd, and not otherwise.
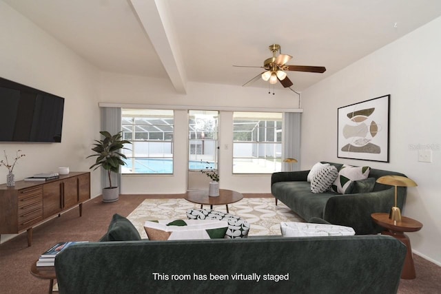
[[[176,94],[170,81],[101,73],[100,102],[134,105],[170,105],[170,108],[219,110],[219,175],[220,188],[242,193],[269,193],[271,175],[243,176],[232,174],[232,111],[234,107],[297,109],[298,95],[280,88],[276,94],[266,89],[243,88],[230,85],[188,83],[187,94]],[[176,107],[178,105],[179,107]],[[122,193],[185,193],[187,191],[187,110],[175,112],[174,174],[125,175],[121,182]]]

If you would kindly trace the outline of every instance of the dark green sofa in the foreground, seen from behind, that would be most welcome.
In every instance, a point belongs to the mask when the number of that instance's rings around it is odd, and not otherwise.
[[[387,294],[405,255],[387,235],[90,242],[57,255],[55,270],[61,294]]]

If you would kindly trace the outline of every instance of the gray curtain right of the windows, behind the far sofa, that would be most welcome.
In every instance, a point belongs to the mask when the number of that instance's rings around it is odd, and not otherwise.
[[[283,162],[282,171],[300,170],[300,112],[285,112],[283,114],[283,155],[285,158],[295,158],[297,163]]]

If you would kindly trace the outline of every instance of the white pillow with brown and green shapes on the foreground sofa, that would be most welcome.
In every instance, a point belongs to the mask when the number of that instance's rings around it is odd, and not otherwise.
[[[223,220],[147,220],[149,240],[196,240],[225,238],[228,223]]]

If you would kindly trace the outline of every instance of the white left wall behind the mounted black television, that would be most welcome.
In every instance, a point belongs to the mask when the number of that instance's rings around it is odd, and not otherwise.
[[[92,139],[99,129],[98,71],[52,36],[0,1],[0,76],[65,98],[61,143],[0,143],[10,157],[21,149],[14,174],[22,180],[33,174],[88,171]],[[0,182],[8,169],[0,167]],[[99,174],[92,174],[92,196],[101,193]],[[11,235],[1,235],[1,240]]]

